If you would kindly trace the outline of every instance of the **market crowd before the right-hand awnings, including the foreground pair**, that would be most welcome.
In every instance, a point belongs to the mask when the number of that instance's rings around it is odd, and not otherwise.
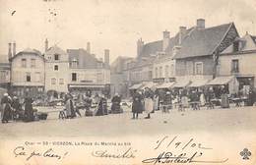
[[[137,89],[133,91],[132,104],[132,119],[138,119],[139,114],[145,111],[145,119],[151,118],[151,113],[156,110],[162,110],[163,113],[168,113],[173,108],[178,108],[179,111],[185,111],[191,107],[192,110],[199,110],[200,107],[206,106],[208,109],[220,105],[222,108],[229,108],[231,98],[242,98],[241,92],[237,95],[228,93],[225,86],[205,87],[205,88],[176,88],[176,89]],[[256,94],[253,89],[250,89],[246,94],[244,105],[252,106],[256,101]]]

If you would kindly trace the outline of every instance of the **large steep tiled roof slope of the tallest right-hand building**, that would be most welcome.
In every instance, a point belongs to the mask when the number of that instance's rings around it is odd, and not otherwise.
[[[183,39],[181,48],[174,56],[175,59],[212,55],[221,44],[225,34],[233,24],[217,27],[194,27]]]

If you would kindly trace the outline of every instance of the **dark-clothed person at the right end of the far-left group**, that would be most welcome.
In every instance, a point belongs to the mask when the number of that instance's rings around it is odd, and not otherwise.
[[[33,111],[32,111],[32,97],[30,97],[27,93],[27,96],[25,98],[25,116],[24,121],[25,122],[32,122],[33,121]]]

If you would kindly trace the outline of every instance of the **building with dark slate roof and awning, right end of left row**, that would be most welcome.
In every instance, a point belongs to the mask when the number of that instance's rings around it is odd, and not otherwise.
[[[109,50],[104,50],[104,62],[90,53],[90,43],[85,49],[68,49],[68,88],[73,92],[91,90],[110,93]]]

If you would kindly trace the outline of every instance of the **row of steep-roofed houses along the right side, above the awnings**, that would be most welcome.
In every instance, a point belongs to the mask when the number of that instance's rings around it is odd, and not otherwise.
[[[128,94],[129,87],[141,83],[175,83],[176,87],[211,81],[221,84],[230,76],[238,81],[238,89],[255,87],[255,39],[248,32],[240,36],[234,23],[205,27],[204,19],[198,19],[194,27],[179,27],[173,36],[164,30],[157,41],[145,44],[140,38],[137,57],[129,59],[119,72],[124,78],[119,88]],[[116,75],[116,65],[111,68],[111,76]]]

